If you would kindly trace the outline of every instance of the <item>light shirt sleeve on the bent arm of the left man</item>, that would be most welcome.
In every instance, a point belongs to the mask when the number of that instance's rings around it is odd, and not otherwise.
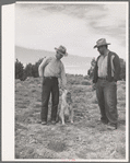
[[[39,77],[44,77],[44,69],[48,65],[49,58],[45,58],[38,67]]]

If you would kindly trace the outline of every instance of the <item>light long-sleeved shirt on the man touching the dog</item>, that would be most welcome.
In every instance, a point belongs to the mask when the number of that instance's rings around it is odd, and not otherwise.
[[[38,68],[39,77],[57,77],[60,79],[62,86],[67,84],[64,66],[56,57],[47,57]]]

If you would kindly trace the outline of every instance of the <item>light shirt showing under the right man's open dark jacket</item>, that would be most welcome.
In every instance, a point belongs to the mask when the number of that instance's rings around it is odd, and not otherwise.
[[[97,62],[98,66],[98,77],[107,77],[107,60],[108,60],[108,53],[105,56],[101,56]],[[114,63],[113,63],[114,57],[111,57],[110,63],[111,63],[111,77],[114,77]]]

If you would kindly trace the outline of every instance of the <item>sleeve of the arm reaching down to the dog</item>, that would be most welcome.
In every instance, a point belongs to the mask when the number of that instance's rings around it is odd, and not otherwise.
[[[66,86],[67,86],[67,77],[66,77],[64,66],[63,66],[62,62],[61,62],[60,79],[61,79],[61,85],[62,85],[63,88],[66,88]]]

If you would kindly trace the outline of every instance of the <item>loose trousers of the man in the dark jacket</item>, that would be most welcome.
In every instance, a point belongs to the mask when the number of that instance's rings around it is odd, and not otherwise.
[[[117,124],[117,84],[98,79],[96,83],[96,96],[101,109],[102,119]]]

